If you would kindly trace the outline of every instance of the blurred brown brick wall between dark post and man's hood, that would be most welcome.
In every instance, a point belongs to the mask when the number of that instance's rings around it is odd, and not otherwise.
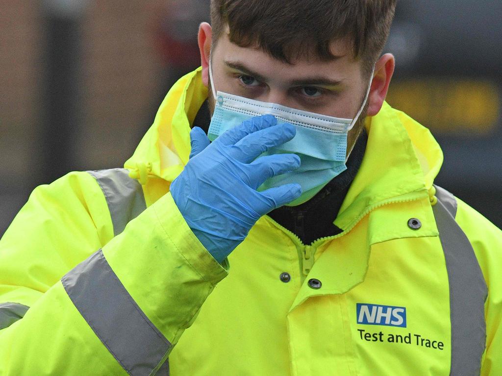
[[[161,74],[153,3],[95,2],[83,20],[80,164],[121,166],[153,121]]]

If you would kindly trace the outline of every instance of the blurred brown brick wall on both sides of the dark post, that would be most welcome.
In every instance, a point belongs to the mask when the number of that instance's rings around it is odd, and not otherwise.
[[[159,2],[89,2],[81,18],[79,114],[71,125],[72,164],[80,169],[121,166],[153,121],[162,71],[152,35]],[[0,5],[0,235],[40,183],[43,22],[40,3]]]

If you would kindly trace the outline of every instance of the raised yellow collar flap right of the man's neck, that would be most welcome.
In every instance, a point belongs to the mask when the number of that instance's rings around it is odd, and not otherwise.
[[[443,161],[430,132],[387,102],[365,125],[366,153],[335,221],[342,229],[389,201],[410,201],[424,193],[432,199],[432,183]]]

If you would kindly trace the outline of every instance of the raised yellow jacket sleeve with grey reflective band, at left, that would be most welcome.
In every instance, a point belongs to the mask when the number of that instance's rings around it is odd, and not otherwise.
[[[161,374],[227,269],[170,194],[113,237],[90,174],[42,185],[0,241],[0,375]]]

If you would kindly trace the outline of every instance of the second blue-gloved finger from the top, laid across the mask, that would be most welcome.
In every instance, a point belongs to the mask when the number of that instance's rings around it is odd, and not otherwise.
[[[232,156],[243,163],[249,163],[271,147],[293,139],[295,135],[296,128],[288,123],[262,129],[248,134],[235,143],[236,152],[232,153]]]

